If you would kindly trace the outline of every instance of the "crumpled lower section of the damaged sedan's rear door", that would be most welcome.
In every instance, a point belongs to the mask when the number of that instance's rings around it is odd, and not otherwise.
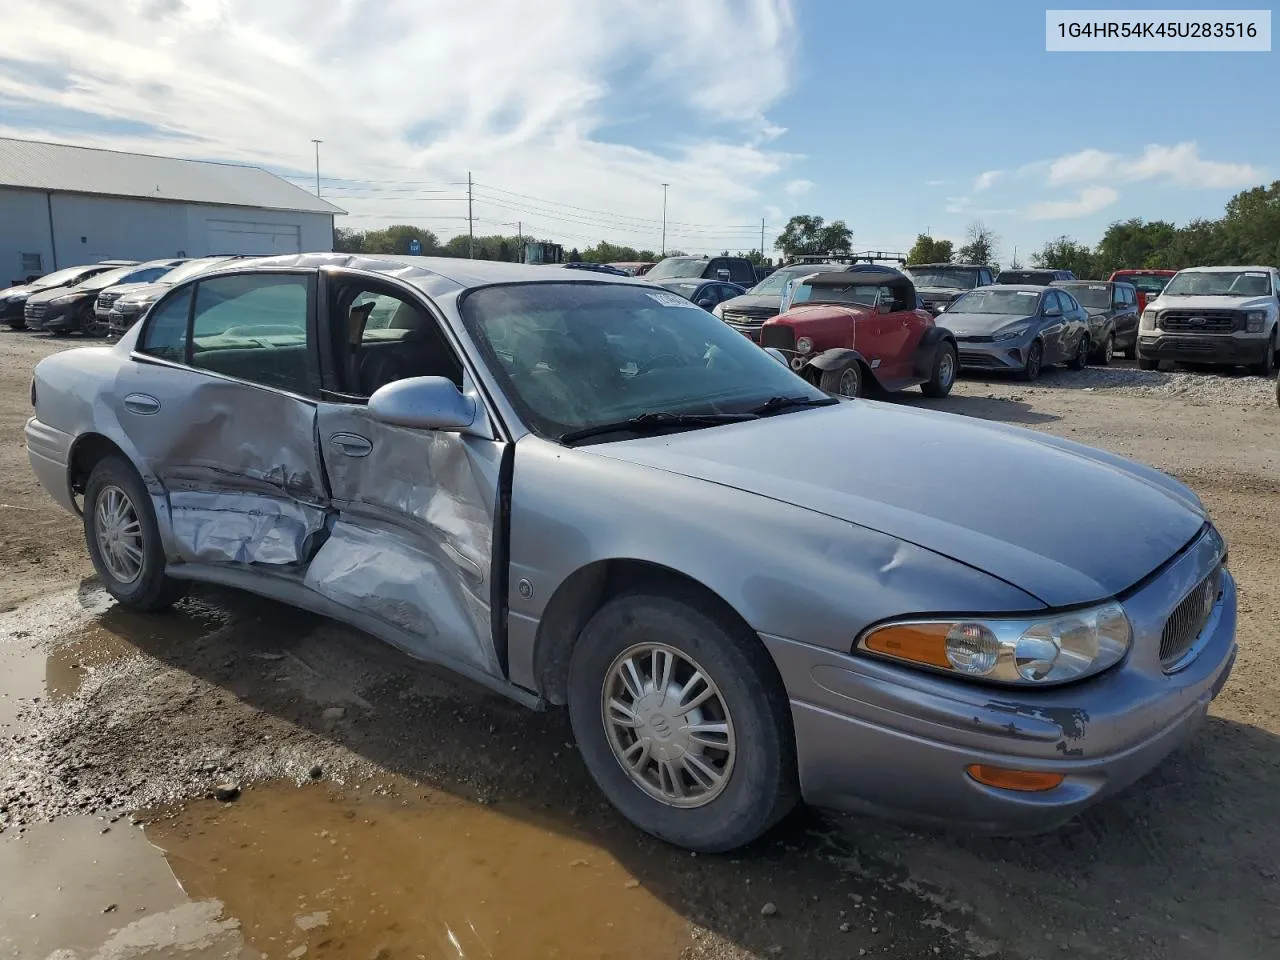
[[[319,507],[244,492],[175,490],[169,516],[189,563],[303,563],[325,525]]]

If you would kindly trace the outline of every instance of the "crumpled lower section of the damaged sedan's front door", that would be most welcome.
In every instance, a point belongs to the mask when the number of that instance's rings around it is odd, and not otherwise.
[[[476,620],[488,623],[488,604],[457,590],[452,562],[411,545],[394,532],[338,521],[307,567],[306,585],[335,603],[376,617],[412,634],[424,659],[443,657],[497,672],[489,635],[476,635]]]

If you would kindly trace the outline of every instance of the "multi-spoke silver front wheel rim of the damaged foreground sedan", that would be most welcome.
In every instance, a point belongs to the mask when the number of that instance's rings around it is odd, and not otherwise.
[[[666,644],[636,644],[605,673],[600,713],[631,781],[668,806],[703,806],[728,785],[737,746],[719,687]]]

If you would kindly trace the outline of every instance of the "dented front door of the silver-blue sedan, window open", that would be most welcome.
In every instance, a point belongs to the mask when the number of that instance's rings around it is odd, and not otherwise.
[[[498,675],[492,564],[507,444],[420,293],[344,271],[323,282],[317,429],[337,522],[307,586],[375,618],[383,635],[390,627],[415,655]],[[379,388],[424,376],[472,397],[475,422],[419,429],[370,411]]]

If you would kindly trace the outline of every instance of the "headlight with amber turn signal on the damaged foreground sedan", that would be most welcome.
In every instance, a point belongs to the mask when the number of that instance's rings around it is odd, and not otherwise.
[[[1133,628],[1115,602],[1043,618],[899,621],[873,627],[858,649],[1001,684],[1062,684],[1119,663]]]

